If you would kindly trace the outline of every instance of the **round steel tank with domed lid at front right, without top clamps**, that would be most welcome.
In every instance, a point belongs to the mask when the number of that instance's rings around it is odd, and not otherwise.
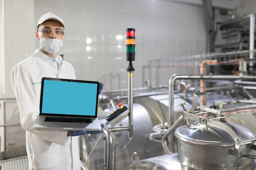
[[[249,142],[255,138],[254,134],[241,125],[230,122],[225,124],[248,143],[236,145],[234,139],[220,128],[206,128],[200,124],[177,128],[174,135],[178,139],[178,155],[182,167],[189,170],[253,170],[255,161],[248,157],[255,157],[255,150],[252,150],[252,143]],[[232,154],[233,151],[237,155]]]

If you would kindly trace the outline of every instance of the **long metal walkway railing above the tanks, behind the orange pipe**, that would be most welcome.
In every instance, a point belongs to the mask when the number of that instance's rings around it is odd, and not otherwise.
[[[150,60],[148,65],[142,67],[142,86],[144,86],[146,81],[152,82],[153,73],[155,75],[155,86],[159,86],[161,79],[160,73],[163,68],[173,68],[175,70],[173,74],[181,74],[177,73],[179,72],[177,71],[178,69],[180,69],[180,71],[191,69],[189,70],[190,74],[200,74],[202,64],[207,60],[216,60],[215,64],[209,65],[232,65],[239,61],[244,61],[249,64],[249,66],[252,66],[256,63],[255,52],[256,49],[226,53],[203,53],[201,55]],[[146,69],[148,69],[148,79],[146,79]],[[170,71],[168,71],[168,73],[170,73]]]

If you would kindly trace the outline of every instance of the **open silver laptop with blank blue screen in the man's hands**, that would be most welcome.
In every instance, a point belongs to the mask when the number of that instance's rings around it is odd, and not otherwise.
[[[42,78],[37,130],[101,130],[97,118],[99,82]]]

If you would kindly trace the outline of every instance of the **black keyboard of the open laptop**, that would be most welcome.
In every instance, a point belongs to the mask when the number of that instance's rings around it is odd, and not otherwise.
[[[72,122],[72,123],[92,123],[92,120],[90,118],[77,118],[77,117],[45,117],[45,121]]]

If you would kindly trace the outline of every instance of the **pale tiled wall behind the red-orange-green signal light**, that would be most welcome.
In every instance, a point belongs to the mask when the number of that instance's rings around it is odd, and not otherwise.
[[[142,86],[142,66],[149,60],[205,52],[202,7],[161,0],[44,0],[35,1],[35,11],[36,21],[49,11],[64,20],[60,53],[73,64],[77,79],[101,81],[104,90],[128,88],[126,28],[136,30],[134,87]],[[123,39],[117,40],[117,35]],[[91,44],[87,38],[93,40]],[[92,51],[86,51],[87,45]],[[121,79],[113,77],[113,87],[111,72]]]

